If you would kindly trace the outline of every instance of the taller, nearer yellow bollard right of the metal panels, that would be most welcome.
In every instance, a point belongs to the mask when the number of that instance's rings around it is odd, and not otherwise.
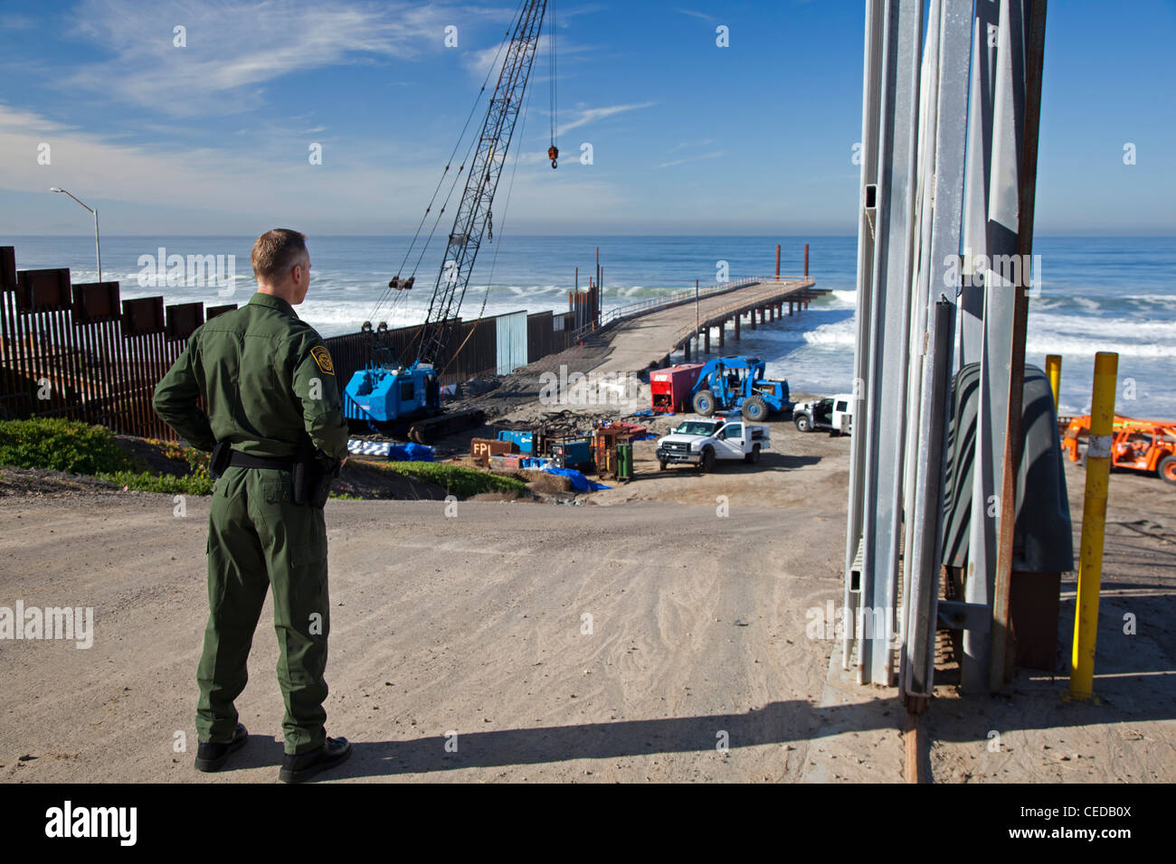
[[[1094,696],[1095,638],[1098,635],[1098,591],[1102,584],[1117,377],[1118,355],[1105,351],[1096,354],[1094,391],[1090,397],[1090,436],[1087,441],[1087,489],[1082,504],[1078,598],[1074,612],[1074,654],[1070,658],[1070,696],[1076,699]]]

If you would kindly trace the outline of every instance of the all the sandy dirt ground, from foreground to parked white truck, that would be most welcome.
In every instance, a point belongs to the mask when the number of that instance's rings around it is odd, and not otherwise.
[[[579,505],[332,501],[328,734],[355,755],[323,782],[901,781],[895,691],[806,636],[842,596],[849,440],[780,422],[773,443],[699,475],[640,442],[636,478]],[[4,781],[276,779],[268,603],[238,702],[252,738],[232,770],[192,768],[208,501],[175,507],[85,484],[0,497],[0,605],[94,609],[89,649],[0,641]],[[940,686],[934,779],[1176,779],[1174,510],[1158,480],[1114,475],[1098,704],[1037,672],[1002,697]],[[1073,576],[1063,591],[1064,657]]]

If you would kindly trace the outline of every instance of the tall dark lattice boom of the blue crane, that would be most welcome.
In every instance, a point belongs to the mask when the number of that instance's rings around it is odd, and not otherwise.
[[[449,245],[437,272],[429,310],[421,328],[417,363],[435,363],[441,359],[450,330],[450,320],[457,315],[466,296],[474,261],[490,219],[494,193],[502,175],[507,150],[510,148],[519,109],[522,107],[527,82],[530,79],[546,11],[547,0],[528,0],[515,21],[494,95],[490,98],[489,109],[482,123],[477,148],[466,178],[466,188],[453,221],[453,230],[449,232]]]

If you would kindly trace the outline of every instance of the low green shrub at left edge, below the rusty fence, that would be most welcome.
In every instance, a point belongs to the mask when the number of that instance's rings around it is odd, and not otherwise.
[[[71,474],[133,467],[108,429],[46,417],[0,421],[0,464]]]

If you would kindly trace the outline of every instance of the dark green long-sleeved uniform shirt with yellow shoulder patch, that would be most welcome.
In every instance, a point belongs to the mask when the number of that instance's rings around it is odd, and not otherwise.
[[[227,440],[234,450],[282,458],[294,455],[306,429],[330,458],[347,456],[330,354],[289,303],[269,294],[198,327],[155,388],[154,408],[199,450]]]

